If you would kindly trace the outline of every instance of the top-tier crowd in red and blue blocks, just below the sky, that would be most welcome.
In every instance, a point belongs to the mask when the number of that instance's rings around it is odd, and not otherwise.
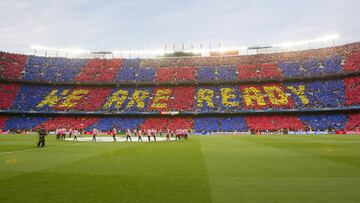
[[[0,78],[65,83],[231,82],[360,71],[359,43],[248,56],[67,59],[0,52]]]

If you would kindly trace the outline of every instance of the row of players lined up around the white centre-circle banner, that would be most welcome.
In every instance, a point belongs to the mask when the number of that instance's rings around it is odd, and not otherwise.
[[[65,140],[65,137],[68,136],[69,138],[71,138],[72,136],[74,136],[73,141],[78,140],[78,136],[79,135],[83,135],[84,131],[82,129],[78,130],[78,129],[66,129],[66,128],[60,128],[56,130],[56,139],[57,140]],[[175,140],[181,140],[182,138],[187,139],[188,138],[188,133],[189,131],[187,129],[176,129],[175,131],[172,131],[170,129],[166,130],[166,140],[170,141],[170,137],[174,137],[175,136]],[[92,130],[92,141],[96,142],[96,136],[100,134],[100,131],[96,128],[94,128]],[[113,137],[113,141],[116,142],[116,135],[118,134],[118,131],[116,128],[113,128],[110,132],[110,134]],[[162,137],[163,132],[162,131],[157,131],[155,129],[134,129],[133,131],[131,131],[129,128],[125,131],[126,134],[126,139],[125,141],[132,141],[131,139],[131,135],[134,135],[134,137],[137,137],[137,141],[138,142],[142,142],[142,137],[147,136],[148,141],[151,141],[151,138],[153,138],[153,140],[156,142],[156,135],[159,134],[160,137]]]

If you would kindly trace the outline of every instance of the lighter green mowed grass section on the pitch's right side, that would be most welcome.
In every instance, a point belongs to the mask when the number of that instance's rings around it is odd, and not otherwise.
[[[308,139],[312,138],[318,139]],[[279,139],[287,147],[261,143],[266,140],[276,145]],[[316,149],[311,145],[306,147],[307,139],[295,136],[279,139],[277,136],[202,138],[213,202],[360,201],[356,192],[360,189],[357,167],[302,152],[300,145],[304,151]],[[338,148],[346,149],[342,145]]]

